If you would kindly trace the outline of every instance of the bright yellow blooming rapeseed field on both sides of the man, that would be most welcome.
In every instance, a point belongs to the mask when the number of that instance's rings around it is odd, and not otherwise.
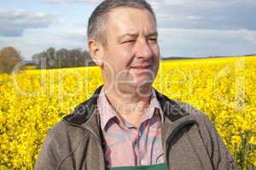
[[[237,169],[256,168],[256,56],[169,60],[154,88],[204,111]],[[102,84],[98,67],[0,75],[0,170],[33,169],[49,128]]]

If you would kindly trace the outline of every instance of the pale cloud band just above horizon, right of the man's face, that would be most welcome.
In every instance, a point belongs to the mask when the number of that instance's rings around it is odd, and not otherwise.
[[[162,55],[255,54],[256,31],[160,28]]]

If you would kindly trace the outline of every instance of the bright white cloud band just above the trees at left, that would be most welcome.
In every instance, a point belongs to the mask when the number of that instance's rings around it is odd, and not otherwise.
[[[33,54],[43,52],[49,47],[86,48],[84,29],[67,26],[28,30],[22,37],[0,37],[0,47],[13,46],[21,50],[21,54],[29,59]]]

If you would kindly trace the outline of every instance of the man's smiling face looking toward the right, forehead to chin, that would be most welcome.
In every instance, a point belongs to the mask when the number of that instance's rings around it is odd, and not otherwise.
[[[160,59],[153,16],[146,9],[114,8],[108,14],[107,32],[104,82],[117,83],[121,88],[139,88],[147,82],[151,85]]]

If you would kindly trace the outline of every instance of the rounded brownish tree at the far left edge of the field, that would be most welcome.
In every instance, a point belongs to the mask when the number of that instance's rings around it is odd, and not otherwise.
[[[13,47],[0,49],[0,73],[11,73],[21,61],[20,52]]]

